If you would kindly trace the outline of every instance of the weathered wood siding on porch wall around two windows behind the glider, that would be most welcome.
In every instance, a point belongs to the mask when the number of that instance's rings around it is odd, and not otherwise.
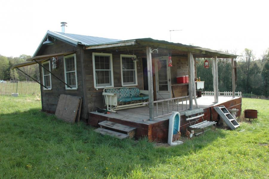
[[[92,64],[92,53],[93,52],[103,52],[103,53],[112,53],[112,63],[113,63],[113,79],[114,87],[122,87],[121,85],[121,71],[120,71],[120,54],[128,55],[129,53],[117,53],[115,51],[105,51],[105,50],[85,50],[85,87],[86,94],[88,99],[88,110],[92,111],[94,107],[104,107],[103,101],[103,88],[96,90],[94,88],[94,76],[93,76],[93,64]],[[137,86],[140,90],[143,90],[143,69],[142,69],[142,59],[140,58],[137,61]],[[96,110],[96,108],[94,109]]]

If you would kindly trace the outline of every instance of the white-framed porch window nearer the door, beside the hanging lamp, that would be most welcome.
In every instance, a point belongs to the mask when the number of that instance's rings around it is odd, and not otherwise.
[[[137,85],[136,61],[133,61],[135,55],[120,55],[121,85]]]

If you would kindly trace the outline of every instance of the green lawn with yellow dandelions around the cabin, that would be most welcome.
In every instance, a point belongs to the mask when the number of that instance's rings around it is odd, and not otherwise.
[[[259,119],[163,147],[66,124],[36,96],[0,96],[0,178],[269,178],[269,101],[243,98],[242,108]]]

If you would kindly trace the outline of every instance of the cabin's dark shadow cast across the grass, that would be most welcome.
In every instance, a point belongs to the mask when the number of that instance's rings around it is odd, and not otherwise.
[[[155,147],[147,138],[135,141],[103,136],[83,122],[68,124],[40,109],[1,114],[0,117],[0,153],[6,160],[5,167],[16,169],[27,163],[40,165],[45,168],[40,177],[48,173],[49,177],[55,176],[54,170],[60,166],[68,172],[88,167],[92,174],[101,177],[108,172],[126,176],[137,166],[154,167],[171,157],[197,153],[217,138],[225,138],[222,130],[208,131],[179,146]],[[17,158],[25,160],[13,158],[14,152]]]

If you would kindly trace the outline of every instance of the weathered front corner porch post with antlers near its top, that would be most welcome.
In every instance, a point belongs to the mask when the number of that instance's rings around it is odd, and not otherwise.
[[[153,77],[151,47],[146,47],[147,67],[148,67],[148,87],[149,87],[149,120],[154,120],[154,97],[153,97]]]

